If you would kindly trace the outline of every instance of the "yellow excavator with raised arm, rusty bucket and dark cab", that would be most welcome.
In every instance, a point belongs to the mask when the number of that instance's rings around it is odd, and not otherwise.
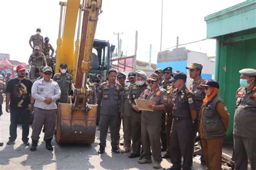
[[[97,105],[87,104],[91,91],[86,79],[88,74],[106,77],[114,47],[109,42],[94,39],[102,0],[84,0],[82,4],[80,0],[68,0],[59,4],[56,66],[68,64],[74,84],[69,103],[58,104],[55,139],[64,144],[92,144],[95,141]],[[92,51],[95,57],[92,57]]]

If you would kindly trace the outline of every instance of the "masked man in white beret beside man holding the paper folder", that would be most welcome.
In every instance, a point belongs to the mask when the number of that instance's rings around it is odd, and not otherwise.
[[[131,87],[129,92],[128,102],[132,107],[132,154],[129,158],[140,157],[140,144],[141,144],[141,115],[142,111],[139,111],[138,106],[135,103],[135,99],[138,99],[140,94],[147,88],[146,84],[147,74],[144,71],[136,71],[137,84]]]

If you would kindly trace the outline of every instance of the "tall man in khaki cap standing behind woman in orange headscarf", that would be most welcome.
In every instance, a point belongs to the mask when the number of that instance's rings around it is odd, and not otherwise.
[[[201,109],[201,106],[203,105],[203,99],[205,98],[205,87],[201,86],[206,83],[206,81],[201,77],[201,72],[203,69],[203,65],[198,63],[191,63],[190,66],[186,67],[188,72],[190,73],[190,78],[193,79],[193,83],[190,85],[190,90],[194,93],[194,96],[196,97],[196,100],[194,104],[196,105],[197,110],[197,118],[194,120],[193,124],[193,139],[196,139],[197,132],[198,132],[198,125],[199,125],[199,112]],[[195,140],[192,140],[192,143],[194,144]],[[200,145],[203,145],[200,138]],[[193,153],[194,151],[192,151]],[[203,147],[201,149],[201,167],[206,168],[206,163],[204,159],[204,153],[203,153]]]

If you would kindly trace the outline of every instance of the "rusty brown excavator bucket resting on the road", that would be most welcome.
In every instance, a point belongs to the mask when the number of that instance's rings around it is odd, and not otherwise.
[[[72,111],[70,103],[58,104],[55,139],[61,144],[93,144],[95,141],[97,105],[91,110]]]

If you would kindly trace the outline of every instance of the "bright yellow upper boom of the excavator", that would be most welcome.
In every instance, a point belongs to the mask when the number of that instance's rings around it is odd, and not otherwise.
[[[78,10],[80,6],[80,0],[68,0],[66,3],[66,13],[64,21],[64,29],[62,34],[62,39],[58,46],[57,40],[57,52],[56,52],[56,72],[58,72],[59,64],[66,63],[71,66],[71,72],[75,77],[76,72],[73,71],[73,66],[75,65],[76,57],[74,53],[74,39],[76,33],[76,24],[78,17]]]

